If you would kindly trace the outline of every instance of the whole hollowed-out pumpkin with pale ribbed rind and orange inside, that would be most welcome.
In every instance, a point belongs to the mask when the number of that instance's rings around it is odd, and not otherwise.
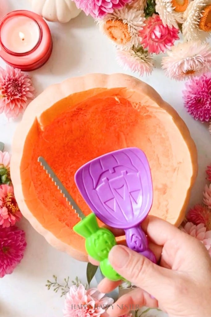
[[[75,172],[125,147],[140,148],[149,161],[150,214],[179,225],[197,174],[196,148],[183,120],[152,87],[124,74],[90,74],[53,85],[31,102],[15,133],[11,178],[23,215],[52,246],[87,261],[84,239],[72,230],[79,218],[38,157],[88,215]]]

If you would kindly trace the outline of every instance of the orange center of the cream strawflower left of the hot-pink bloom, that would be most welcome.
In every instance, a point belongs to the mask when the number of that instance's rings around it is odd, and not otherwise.
[[[121,20],[108,20],[103,26],[105,34],[116,44],[125,45],[131,40],[128,25]]]

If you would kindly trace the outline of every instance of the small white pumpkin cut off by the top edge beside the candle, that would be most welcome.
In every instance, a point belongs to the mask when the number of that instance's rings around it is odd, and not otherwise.
[[[30,0],[32,10],[47,21],[66,23],[81,12],[72,0]]]

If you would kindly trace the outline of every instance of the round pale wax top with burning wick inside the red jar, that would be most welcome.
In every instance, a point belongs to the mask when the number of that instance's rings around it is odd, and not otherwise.
[[[3,23],[0,37],[10,52],[30,52],[40,40],[38,24],[27,16],[13,16]]]

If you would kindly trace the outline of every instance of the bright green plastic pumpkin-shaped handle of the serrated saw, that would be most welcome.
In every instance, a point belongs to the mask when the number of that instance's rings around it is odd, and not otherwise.
[[[100,262],[100,268],[105,277],[111,281],[124,280],[112,268],[108,259],[109,251],[116,244],[115,236],[110,230],[98,226],[94,213],[77,223],[73,230],[86,239],[86,251],[93,259]]]

